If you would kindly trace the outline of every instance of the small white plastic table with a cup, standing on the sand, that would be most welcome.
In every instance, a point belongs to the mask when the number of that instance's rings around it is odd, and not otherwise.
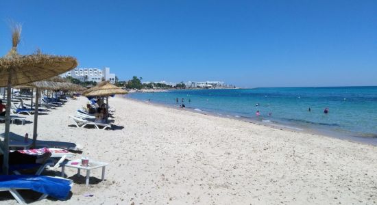
[[[72,163],[77,163],[77,165],[73,165]],[[82,166],[81,164],[81,159],[75,159],[72,161],[68,161],[66,163],[60,163],[62,166],[62,177],[64,177],[64,168],[65,167],[72,167],[77,169],[77,175],[80,176],[80,170],[85,169],[86,170],[86,187],[89,186],[89,178],[90,178],[90,170],[91,169],[98,169],[102,167],[102,178],[101,180],[105,179],[105,167],[108,165],[108,163],[103,163],[100,161],[93,161],[89,160],[89,165],[88,166]]]

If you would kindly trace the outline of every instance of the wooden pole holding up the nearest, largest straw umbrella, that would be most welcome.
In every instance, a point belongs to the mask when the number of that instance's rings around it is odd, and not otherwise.
[[[5,108],[5,136],[3,143],[3,174],[8,175],[9,169],[9,131],[10,131],[10,94],[12,90],[12,75],[9,74],[8,77],[8,87],[7,87],[7,105]]]

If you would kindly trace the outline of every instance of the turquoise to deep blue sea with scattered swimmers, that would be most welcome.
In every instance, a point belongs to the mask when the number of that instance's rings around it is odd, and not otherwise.
[[[377,145],[377,87],[171,90],[126,97]]]

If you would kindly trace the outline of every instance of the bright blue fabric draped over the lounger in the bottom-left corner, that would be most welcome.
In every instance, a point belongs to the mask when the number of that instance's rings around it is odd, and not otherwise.
[[[0,175],[1,188],[25,188],[65,200],[71,191],[70,180],[36,175]]]

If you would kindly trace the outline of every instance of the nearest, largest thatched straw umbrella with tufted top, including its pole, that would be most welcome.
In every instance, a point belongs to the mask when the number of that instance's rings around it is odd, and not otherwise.
[[[5,139],[1,142],[4,174],[8,174],[9,167],[10,92],[12,85],[21,85],[48,79],[77,66],[77,61],[74,57],[45,55],[40,52],[32,55],[19,55],[17,53],[17,45],[20,42],[20,36],[21,26],[14,26],[12,29],[12,49],[7,55],[0,58],[0,87],[7,87]],[[38,98],[38,90],[36,94]],[[35,109],[38,113],[38,100],[36,100]],[[34,115],[34,126],[36,126],[37,122],[38,114]]]

